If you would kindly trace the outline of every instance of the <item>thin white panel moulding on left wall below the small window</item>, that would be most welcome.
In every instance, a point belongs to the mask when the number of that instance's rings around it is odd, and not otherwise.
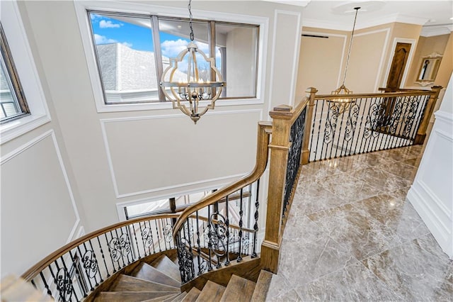
[[[21,155],[23,152],[30,149],[30,147],[37,145],[38,142],[42,142],[42,140],[45,140],[48,137],[52,138],[52,142],[55,147],[55,152],[57,152],[59,166],[60,166],[60,169],[62,169],[64,181],[66,182],[66,186],[67,186],[68,193],[69,193],[69,198],[71,198],[72,208],[73,208],[74,214],[76,216],[76,221],[74,222],[74,225],[73,225],[71,232],[69,233],[69,236],[67,239],[67,243],[68,243],[68,242],[71,242],[71,240],[74,237],[74,234],[76,233],[76,229],[80,223],[80,216],[79,216],[79,210],[77,209],[77,206],[76,206],[76,201],[74,199],[74,194],[72,194],[71,184],[69,182],[69,177],[66,172],[66,168],[64,167],[64,162],[63,162],[62,155],[61,155],[61,152],[58,147],[58,142],[57,142],[57,138],[55,137],[54,130],[52,130],[52,129],[48,130],[45,133],[42,133],[42,135],[39,135],[38,137],[34,138],[33,140],[30,140],[27,143],[25,143],[24,145],[21,145],[21,147],[16,148],[16,150],[9,152],[7,155],[4,155],[3,157],[0,158],[0,165],[5,164],[6,162],[8,162],[9,160],[13,159],[14,157],[16,157],[18,155]]]

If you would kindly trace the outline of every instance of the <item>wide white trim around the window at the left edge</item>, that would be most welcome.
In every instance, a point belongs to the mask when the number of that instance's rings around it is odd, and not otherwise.
[[[16,1],[2,1],[1,23],[31,114],[0,125],[0,144],[50,122],[40,77]]]

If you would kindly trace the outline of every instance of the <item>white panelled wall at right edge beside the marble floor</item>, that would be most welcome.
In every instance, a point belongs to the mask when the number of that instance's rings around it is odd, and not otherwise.
[[[408,200],[453,258],[453,77],[450,77]]]

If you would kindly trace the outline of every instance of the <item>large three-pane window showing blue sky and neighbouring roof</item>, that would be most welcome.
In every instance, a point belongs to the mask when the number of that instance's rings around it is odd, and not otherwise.
[[[188,19],[90,10],[88,18],[104,104],[166,101],[159,82],[169,58],[190,41]],[[222,72],[222,99],[256,98],[259,26],[195,20],[193,30],[197,46]],[[200,72],[209,80],[208,70]]]

